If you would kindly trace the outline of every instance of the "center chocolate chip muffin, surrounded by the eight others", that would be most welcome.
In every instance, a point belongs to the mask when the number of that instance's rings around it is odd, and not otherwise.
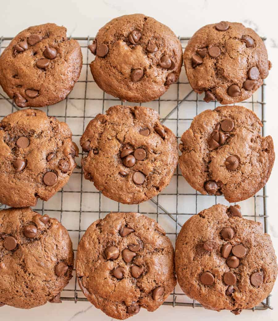
[[[151,108],[113,106],[98,114],[80,139],[86,179],[103,195],[139,204],[169,184],[178,163],[176,136]]]

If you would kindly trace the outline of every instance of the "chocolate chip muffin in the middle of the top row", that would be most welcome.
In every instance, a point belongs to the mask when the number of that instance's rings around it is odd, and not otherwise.
[[[167,26],[143,14],[115,18],[89,46],[91,72],[99,87],[125,101],[159,98],[178,80],[182,48]]]

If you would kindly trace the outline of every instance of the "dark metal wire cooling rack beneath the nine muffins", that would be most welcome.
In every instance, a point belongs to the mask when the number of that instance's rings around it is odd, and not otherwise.
[[[0,39],[0,52],[6,48],[12,38]],[[94,39],[93,37],[73,38],[76,39],[83,53],[83,67],[81,76],[75,84],[73,91],[67,98],[56,105],[40,108],[44,110],[48,116],[55,116],[61,121],[65,121],[73,131],[73,141],[79,144],[79,139],[84,132],[88,122],[98,113],[105,111],[116,104],[140,105],[134,103],[123,103],[117,98],[101,91],[94,82],[89,63],[94,56],[88,50],[88,45]],[[183,49],[186,47],[190,38],[179,37]],[[263,39],[265,40],[265,39]],[[257,116],[265,124],[265,83],[258,89],[250,99],[240,103],[240,105],[252,109]],[[168,126],[177,135],[178,143],[180,136],[189,128],[193,118],[205,109],[216,108],[217,102],[205,103],[203,101],[204,94],[196,94],[187,80],[184,68],[176,84],[170,86],[169,90],[158,100],[145,103],[144,106],[151,107],[161,115],[161,123]],[[0,119],[7,114],[16,111],[18,108],[13,104],[13,100],[9,99],[0,88]],[[265,126],[262,128],[264,136]],[[118,212],[138,212],[146,216],[154,218],[165,229],[167,236],[171,239],[175,246],[177,234],[187,219],[192,215],[199,213],[204,208],[208,208],[213,204],[229,203],[221,196],[202,195],[191,188],[181,175],[179,169],[176,170],[168,187],[166,187],[158,196],[153,199],[138,204],[124,205],[112,201],[103,196],[94,186],[93,183],[87,181],[83,177],[81,169],[81,158],[86,153],[80,152],[79,158],[76,159],[77,167],[74,170],[68,184],[57,192],[48,202],[39,200],[34,210],[44,214],[48,213],[51,217],[56,217],[68,230],[73,241],[74,254],[76,254],[77,245],[89,225],[111,211]],[[239,202],[242,213],[247,219],[260,221],[263,225],[265,233],[268,232],[267,226],[267,194],[266,186],[256,195],[246,201]],[[0,208],[6,208],[4,204],[0,204]],[[87,301],[83,292],[78,286],[75,268],[73,271],[73,279],[62,291],[61,299],[77,301]],[[270,306],[269,295],[264,302],[250,310],[266,310],[272,309]],[[177,285],[173,293],[163,303],[164,305],[202,307],[197,301],[189,299]]]

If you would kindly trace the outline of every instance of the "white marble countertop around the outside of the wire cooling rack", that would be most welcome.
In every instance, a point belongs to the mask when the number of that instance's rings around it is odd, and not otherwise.
[[[110,19],[123,14],[144,13],[167,24],[177,35],[191,36],[199,27],[207,23],[220,20],[242,22],[256,30],[260,36],[266,36],[266,46],[269,59],[273,63],[269,77],[266,79],[267,97],[267,134],[271,134],[275,147],[278,146],[278,107],[277,107],[277,77],[278,77],[278,36],[277,36],[277,4],[274,1],[9,1],[2,2],[0,7],[0,34],[14,36],[29,25],[45,22],[63,24],[72,36],[94,36],[97,30]],[[74,124],[73,124],[74,125]],[[277,150],[277,148],[276,148]],[[278,253],[278,165],[275,162],[271,178],[268,182],[268,213],[269,230],[272,236],[276,253]],[[70,188],[70,187],[69,187]],[[237,319],[277,320],[278,318],[278,282],[272,292],[271,303],[276,308],[271,311],[244,311]],[[133,320],[152,318],[152,320],[226,320],[235,316],[229,311],[217,313],[203,308],[184,308],[162,306],[154,313],[141,309]],[[4,306],[1,308],[0,320],[30,320],[40,319],[53,321],[67,320],[111,320],[100,310],[95,309],[88,302],[64,301],[63,304],[46,304],[32,310],[20,310]]]

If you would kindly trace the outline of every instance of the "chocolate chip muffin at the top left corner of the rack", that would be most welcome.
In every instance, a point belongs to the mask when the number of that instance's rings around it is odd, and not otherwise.
[[[18,107],[65,99],[78,80],[82,53],[66,28],[46,23],[23,30],[0,57],[0,84]]]

